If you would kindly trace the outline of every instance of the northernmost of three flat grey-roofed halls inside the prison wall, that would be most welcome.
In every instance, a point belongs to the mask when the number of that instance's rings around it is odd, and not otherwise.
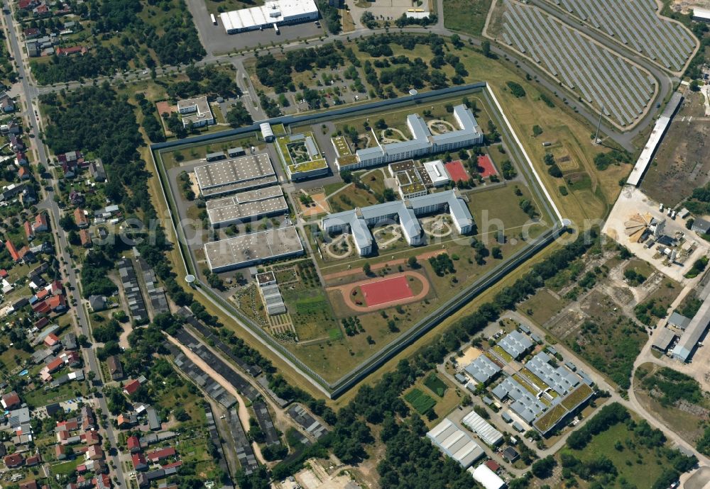
[[[266,153],[195,167],[195,179],[205,198],[276,183],[273,165]]]

